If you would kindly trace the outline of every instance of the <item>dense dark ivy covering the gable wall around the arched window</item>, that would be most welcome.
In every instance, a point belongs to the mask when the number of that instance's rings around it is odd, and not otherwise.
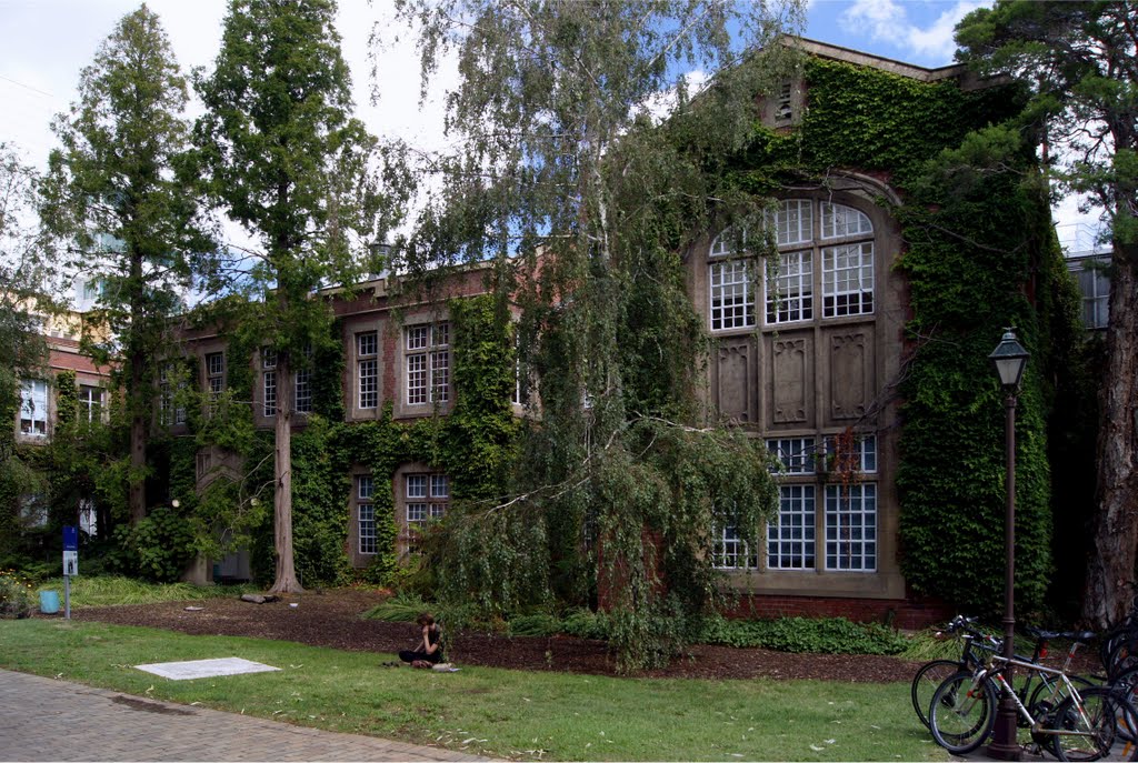
[[[1078,293],[1052,230],[1022,91],[965,91],[831,60],[805,65],[799,127],[756,138],[741,188],[825,188],[835,171],[884,179],[909,290],[900,396],[901,569],[917,595],[992,612],[1003,590],[1004,397],[988,355],[1015,325],[1032,354],[1017,417],[1016,595],[1045,604],[1054,566],[1048,422],[1079,341]],[[884,199],[879,204],[891,206]]]

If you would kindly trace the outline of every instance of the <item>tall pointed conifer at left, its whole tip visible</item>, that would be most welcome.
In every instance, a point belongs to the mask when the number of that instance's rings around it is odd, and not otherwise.
[[[167,318],[214,244],[192,189],[175,177],[189,94],[158,16],[122,18],[80,74],[79,101],[52,130],[42,217],[69,267],[100,285],[97,315],[122,347],[130,417],[130,516],[146,516],[155,358]],[[91,346],[106,362],[113,347]]]

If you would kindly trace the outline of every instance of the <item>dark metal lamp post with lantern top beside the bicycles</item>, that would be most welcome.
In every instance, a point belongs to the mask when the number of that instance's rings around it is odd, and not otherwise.
[[[1004,656],[1012,658],[1015,638],[1015,403],[1020,392],[1023,367],[1030,355],[1015,339],[1015,329],[1005,329],[1004,337],[991,355],[996,365],[1000,387],[1004,388],[1004,447],[1006,453],[1007,499],[1004,514]],[[1012,683],[1012,665],[1006,666],[1008,685]],[[1020,760],[1020,745],[1015,741],[1016,711],[1012,692],[1004,690],[996,713],[996,729],[988,754],[1001,761]]]

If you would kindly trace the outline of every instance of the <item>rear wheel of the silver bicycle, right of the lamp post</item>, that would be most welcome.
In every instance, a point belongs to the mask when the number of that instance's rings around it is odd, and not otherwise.
[[[1118,736],[1119,723],[1132,725],[1133,706],[1108,687],[1080,690],[1081,702],[1067,697],[1054,715],[1055,756],[1061,761],[1105,757]]]

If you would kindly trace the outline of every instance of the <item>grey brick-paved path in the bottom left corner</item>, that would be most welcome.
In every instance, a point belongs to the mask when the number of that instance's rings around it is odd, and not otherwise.
[[[485,761],[0,670],[2,761]]]

